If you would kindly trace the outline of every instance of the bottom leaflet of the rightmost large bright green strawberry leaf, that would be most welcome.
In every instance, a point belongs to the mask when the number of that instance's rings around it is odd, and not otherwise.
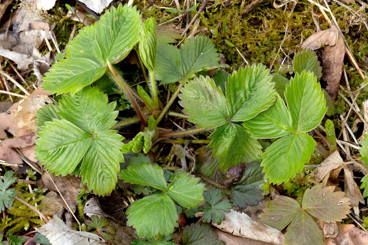
[[[315,146],[315,140],[304,133],[279,138],[262,155],[265,179],[275,184],[287,182],[297,172],[301,172]]]

